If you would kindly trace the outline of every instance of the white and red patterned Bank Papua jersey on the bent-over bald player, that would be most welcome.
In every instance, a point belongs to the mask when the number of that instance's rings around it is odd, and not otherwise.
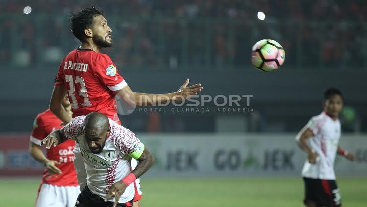
[[[64,128],[66,138],[76,140],[79,143],[80,153],[83,156],[87,173],[87,185],[93,194],[105,199],[106,189],[112,184],[121,181],[131,172],[129,153],[137,149],[140,140],[133,132],[117,124],[110,122],[110,134],[99,154],[94,154],[88,147],[84,137],[83,123],[85,116],[75,117]],[[130,184],[121,195],[119,203],[126,203],[134,197],[134,185]],[[110,199],[113,201],[114,198]]]

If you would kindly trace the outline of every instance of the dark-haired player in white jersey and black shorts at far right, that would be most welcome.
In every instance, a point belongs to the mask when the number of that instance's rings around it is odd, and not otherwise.
[[[339,188],[335,182],[336,153],[354,161],[354,155],[339,147],[341,126],[339,114],[343,107],[342,93],[335,88],[324,92],[324,111],[311,118],[298,133],[296,141],[307,153],[302,177],[305,183],[304,204],[307,207],[341,207]],[[310,142],[307,144],[306,140]]]

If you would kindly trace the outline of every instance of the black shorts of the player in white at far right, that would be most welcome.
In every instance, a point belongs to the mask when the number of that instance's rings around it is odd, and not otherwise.
[[[339,188],[335,180],[321,180],[303,177],[305,187],[304,204],[309,201],[317,206],[340,207],[342,205]]]

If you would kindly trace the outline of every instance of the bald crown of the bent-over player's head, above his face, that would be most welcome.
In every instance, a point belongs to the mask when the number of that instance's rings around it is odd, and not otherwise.
[[[84,119],[84,132],[88,135],[98,135],[108,130],[109,121],[106,115],[99,112],[92,112]]]

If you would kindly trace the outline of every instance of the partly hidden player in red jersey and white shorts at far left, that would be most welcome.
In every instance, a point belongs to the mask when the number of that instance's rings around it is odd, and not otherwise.
[[[67,96],[63,99],[63,108],[71,115]],[[56,147],[47,149],[46,157],[40,149],[41,141],[44,138],[53,130],[63,127],[60,123],[62,121],[49,109],[38,114],[34,120],[29,142],[29,154],[46,167],[36,207],[74,207],[76,198],[80,193],[73,163],[75,141],[67,140]]]

